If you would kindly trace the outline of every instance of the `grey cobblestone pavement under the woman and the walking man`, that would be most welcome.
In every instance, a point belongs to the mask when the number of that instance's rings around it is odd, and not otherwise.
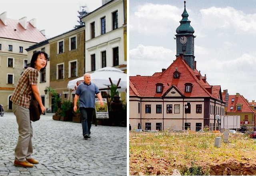
[[[0,117],[0,176],[126,176],[126,127],[92,125],[91,138],[81,123],[52,120],[53,113],[32,122],[33,168],[14,166],[18,125],[13,113]]]

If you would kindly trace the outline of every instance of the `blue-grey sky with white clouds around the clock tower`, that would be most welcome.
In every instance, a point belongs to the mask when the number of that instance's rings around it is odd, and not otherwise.
[[[187,0],[197,70],[229,95],[256,101],[256,0]],[[176,59],[183,0],[129,1],[129,75],[153,75]]]

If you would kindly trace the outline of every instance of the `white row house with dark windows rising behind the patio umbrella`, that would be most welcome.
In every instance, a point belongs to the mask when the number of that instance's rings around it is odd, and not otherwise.
[[[106,1],[86,14],[85,72],[116,67],[126,72],[126,1]]]

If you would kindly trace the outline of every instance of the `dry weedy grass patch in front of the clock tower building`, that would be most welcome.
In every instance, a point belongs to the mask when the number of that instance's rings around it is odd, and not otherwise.
[[[220,163],[234,158],[240,163],[246,163],[256,152],[256,140],[246,135],[229,134],[229,143],[222,141],[220,148],[214,147],[216,137],[222,137],[223,140],[224,134],[193,131],[130,132],[130,173],[137,171],[153,175],[146,169],[147,165],[151,165],[160,170],[161,174],[163,172],[162,175],[171,175],[174,168],[181,170],[184,166],[189,175],[200,172],[209,175],[208,166],[211,162]],[[193,163],[188,166],[190,161]]]

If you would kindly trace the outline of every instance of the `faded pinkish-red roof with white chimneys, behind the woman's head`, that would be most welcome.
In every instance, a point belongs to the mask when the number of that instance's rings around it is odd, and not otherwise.
[[[19,24],[18,20],[6,18],[6,26],[0,20],[0,38],[9,38],[26,42],[39,43],[46,40],[46,37],[27,22],[26,30]]]

